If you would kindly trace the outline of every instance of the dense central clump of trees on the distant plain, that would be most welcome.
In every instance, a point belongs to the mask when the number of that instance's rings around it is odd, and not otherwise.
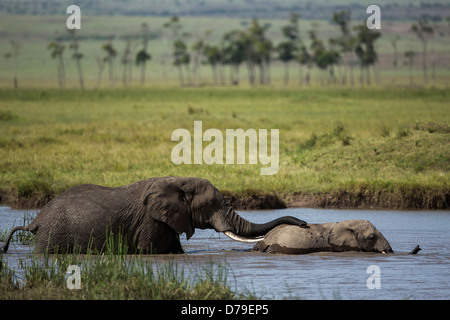
[[[258,19],[252,19],[245,30],[231,30],[222,36],[218,44],[207,41],[210,31],[196,39],[189,46],[186,43],[190,36],[181,32],[178,17],[173,17],[164,25],[173,30],[173,64],[178,68],[180,84],[197,84],[199,82],[197,68],[199,57],[204,64],[211,67],[214,84],[225,84],[225,68],[229,69],[229,83],[238,85],[240,69],[247,69],[250,85],[271,83],[271,64],[274,60],[284,64],[284,85],[289,83],[291,64],[299,67],[300,84],[309,85],[311,69],[316,67],[321,72],[320,81],[325,83],[354,84],[353,68],[359,63],[366,73],[366,82],[370,83],[369,68],[377,62],[375,41],[381,36],[376,30],[369,30],[365,23],[351,28],[350,11],[344,10],[333,14],[333,23],[339,26],[341,35],[329,39],[328,43],[318,36],[318,24],[308,30],[309,45],[300,33],[300,16],[291,13],[286,26],[282,28],[283,40],[275,45],[267,36],[269,25],[262,25]],[[353,31],[353,32],[352,32]],[[356,61],[357,57],[358,61]],[[342,80],[338,80],[335,66],[346,67]],[[185,70],[185,71],[183,71]],[[304,70],[306,72],[304,72]],[[348,72],[347,72],[348,70]],[[362,80],[361,80],[362,82]]]

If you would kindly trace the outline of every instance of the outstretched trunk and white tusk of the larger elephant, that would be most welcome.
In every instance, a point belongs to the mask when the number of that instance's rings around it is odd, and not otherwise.
[[[252,223],[239,216],[231,207],[228,207],[225,213],[221,213],[220,218],[217,219],[216,217],[213,216],[211,219],[212,227],[218,232],[224,232],[231,239],[241,242],[264,240],[264,235],[281,224],[307,227],[305,221],[290,216],[277,218],[262,224]]]

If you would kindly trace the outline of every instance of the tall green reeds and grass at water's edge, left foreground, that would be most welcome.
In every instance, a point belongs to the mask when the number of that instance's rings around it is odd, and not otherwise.
[[[118,246],[120,247],[120,245]],[[173,258],[173,259],[172,259]],[[175,257],[168,262],[150,256],[126,255],[108,246],[103,255],[32,256],[8,267],[0,256],[0,299],[254,299],[248,290],[236,293],[229,285],[228,267],[213,262],[180,270]],[[67,288],[70,265],[80,268],[81,288]]]

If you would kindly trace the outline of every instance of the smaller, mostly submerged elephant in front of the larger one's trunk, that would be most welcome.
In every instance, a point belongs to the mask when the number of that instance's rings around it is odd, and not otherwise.
[[[393,253],[381,234],[367,220],[308,224],[309,228],[280,225],[253,247],[253,251],[305,254],[321,251]]]

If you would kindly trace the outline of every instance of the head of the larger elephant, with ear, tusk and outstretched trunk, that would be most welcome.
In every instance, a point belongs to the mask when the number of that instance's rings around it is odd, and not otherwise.
[[[240,217],[223,195],[208,180],[167,177],[157,180],[146,191],[146,211],[178,234],[189,239],[195,228],[212,228],[233,240],[256,242],[280,224],[305,227],[294,217],[281,217],[265,224],[251,223]]]

